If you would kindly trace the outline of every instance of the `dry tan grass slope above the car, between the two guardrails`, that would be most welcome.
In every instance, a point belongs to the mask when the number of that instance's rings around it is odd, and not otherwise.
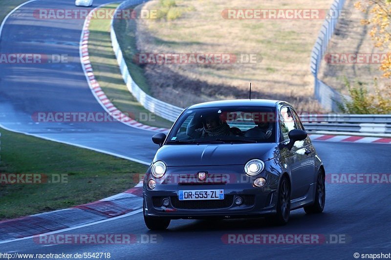
[[[192,103],[248,97],[292,102],[299,110],[319,111],[313,99],[310,53],[323,20],[226,20],[226,8],[328,9],[332,0],[176,0],[190,11],[175,20],[138,20],[140,53],[257,54],[248,64],[147,64],[144,73],[154,97],[185,107]],[[158,9],[159,1],[143,9]]]

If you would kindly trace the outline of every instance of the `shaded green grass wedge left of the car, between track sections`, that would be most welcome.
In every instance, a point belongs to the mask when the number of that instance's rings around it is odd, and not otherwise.
[[[66,183],[0,183],[0,219],[68,208],[109,197],[134,186],[133,175],[145,173],[147,169],[146,165],[87,149],[1,128],[0,132],[0,173],[67,176]]]

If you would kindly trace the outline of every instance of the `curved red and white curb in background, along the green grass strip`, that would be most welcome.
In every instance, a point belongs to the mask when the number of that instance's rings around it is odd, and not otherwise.
[[[89,60],[89,53],[88,53],[88,38],[89,38],[88,28],[89,28],[92,14],[95,12],[96,9],[100,8],[101,6],[94,8],[87,16],[87,19],[85,20],[83,26],[82,36],[80,39],[80,59],[83,66],[84,73],[86,75],[86,79],[88,81],[89,88],[92,91],[92,94],[94,95],[96,100],[98,100],[98,102],[101,104],[101,106],[106,110],[106,112],[108,112],[109,115],[113,117],[115,120],[118,120],[128,126],[135,127],[138,129],[154,131],[154,132],[168,132],[169,129],[167,128],[159,128],[159,127],[142,124],[134,119],[131,119],[127,114],[121,112],[109,100],[105,92],[100,87],[99,82],[95,79],[94,72],[92,70],[92,65]]]

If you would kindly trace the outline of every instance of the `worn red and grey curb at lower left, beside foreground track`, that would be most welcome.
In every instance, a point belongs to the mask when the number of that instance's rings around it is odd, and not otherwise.
[[[136,213],[142,208],[142,185],[140,182],[120,194],[68,209],[2,220],[0,244]]]

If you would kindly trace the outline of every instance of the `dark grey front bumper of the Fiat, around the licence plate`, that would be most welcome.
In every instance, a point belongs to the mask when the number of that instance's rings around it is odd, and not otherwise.
[[[242,171],[243,166],[231,165],[213,166],[208,168],[208,176],[218,176],[216,179],[206,183],[198,182],[196,174],[185,172],[196,172],[197,169],[188,168],[183,171],[179,167],[170,169],[164,178],[170,179],[176,176],[175,181],[157,180],[150,174],[144,177],[143,195],[145,215],[149,217],[167,217],[170,219],[205,219],[205,218],[250,218],[260,217],[276,213],[277,187],[279,175],[263,171],[256,177],[248,177]],[[218,169],[217,169],[218,168]],[[171,176],[170,176],[171,175]],[[189,178],[190,177],[190,178]],[[219,177],[223,177],[219,179]],[[266,185],[254,187],[253,181],[263,177]],[[184,181],[184,179],[192,181]],[[156,187],[151,190],[147,183],[149,180],[156,180]],[[173,180],[175,178],[171,178]],[[194,181],[196,180],[196,181]],[[215,181],[225,180],[225,181]],[[225,183],[218,183],[225,182]],[[224,200],[179,200],[179,190],[224,190]],[[241,197],[242,203],[236,204],[235,199]],[[162,204],[167,198],[170,201],[168,206]]]

